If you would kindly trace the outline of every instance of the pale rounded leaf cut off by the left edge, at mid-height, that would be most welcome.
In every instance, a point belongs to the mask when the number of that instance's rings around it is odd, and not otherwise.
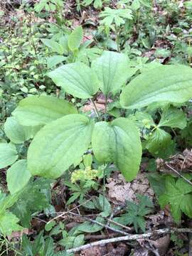
[[[0,169],[14,164],[18,159],[16,146],[11,143],[0,143]]]

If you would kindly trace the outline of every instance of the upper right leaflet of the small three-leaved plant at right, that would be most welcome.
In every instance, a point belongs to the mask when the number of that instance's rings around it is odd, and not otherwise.
[[[177,127],[179,129],[184,129],[186,124],[186,115],[184,112],[175,107],[169,107],[169,109],[164,110],[162,113],[158,127]]]

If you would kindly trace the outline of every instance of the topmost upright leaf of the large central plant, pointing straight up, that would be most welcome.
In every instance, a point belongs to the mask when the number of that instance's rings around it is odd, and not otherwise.
[[[129,67],[127,55],[107,50],[92,62],[92,69],[97,73],[100,89],[105,95],[120,89],[124,82],[137,71]]]

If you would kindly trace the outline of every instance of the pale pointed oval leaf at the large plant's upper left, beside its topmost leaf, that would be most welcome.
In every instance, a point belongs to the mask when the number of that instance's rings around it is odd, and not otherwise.
[[[56,85],[74,97],[87,99],[99,90],[95,72],[84,63],[70,63],[48,73]]]

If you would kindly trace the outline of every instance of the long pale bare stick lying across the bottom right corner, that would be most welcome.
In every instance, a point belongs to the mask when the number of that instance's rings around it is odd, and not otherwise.
[[[85,250],[87,248],[90,248],[96,245],[106,245],[107,243],[110,243],[110,242],[145,239],[145,238],[150,238],[152,235],[161,235],[166,233],[192,233],[192,229],[191,228],[164,228],[160,230],[155,230],[154,232],[144,233],[141,235],[125,235],[118,238],[109,238],[109,239],[100,240],[97,242],[90,242],[87,245],[81,245],[80,247],[66,250],[66,252],[67,253],[79,252],[80,250]]]

